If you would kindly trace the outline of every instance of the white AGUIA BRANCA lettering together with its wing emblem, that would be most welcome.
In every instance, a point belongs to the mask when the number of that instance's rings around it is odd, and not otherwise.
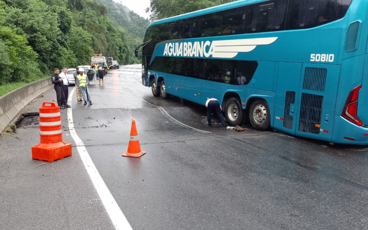
[[[163,56],[233,58],[241,52],[251,52],[260,45],[270,45],[278,37],[215,40],[201,42],[168,42]]]

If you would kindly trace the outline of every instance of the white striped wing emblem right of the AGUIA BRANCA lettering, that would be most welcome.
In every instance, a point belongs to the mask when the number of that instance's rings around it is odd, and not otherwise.
[[[233,58],[240,52],[251,52],[259,45],[270,45],[276,40],[277,37],[213,41],[212,57]]]

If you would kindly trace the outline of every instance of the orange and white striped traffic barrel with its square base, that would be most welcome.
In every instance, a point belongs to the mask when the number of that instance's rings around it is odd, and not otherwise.
[[[32,159],[53,162],[71,156],[71,144],[63,141],[60,107],[44,102],[40,111],[40,144],[32,146]]]

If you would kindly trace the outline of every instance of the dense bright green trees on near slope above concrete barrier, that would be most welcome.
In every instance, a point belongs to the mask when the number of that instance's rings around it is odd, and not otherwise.
[[[0,85],[88,64],[94,52],[137,62],[127,34],[96,0],[0,0]]]

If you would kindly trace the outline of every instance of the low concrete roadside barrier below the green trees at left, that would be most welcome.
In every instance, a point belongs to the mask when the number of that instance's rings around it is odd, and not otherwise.
[[[0,97],[0,132],[14,120],[21,109],[33,99],[51,89],[50,78],[33,82]]]

